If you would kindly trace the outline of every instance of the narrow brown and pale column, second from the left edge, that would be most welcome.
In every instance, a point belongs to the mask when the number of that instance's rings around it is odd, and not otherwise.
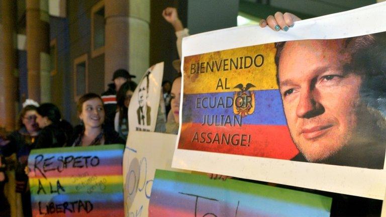
[[[26,0],[28,97],[51,99],[48,0]]]

